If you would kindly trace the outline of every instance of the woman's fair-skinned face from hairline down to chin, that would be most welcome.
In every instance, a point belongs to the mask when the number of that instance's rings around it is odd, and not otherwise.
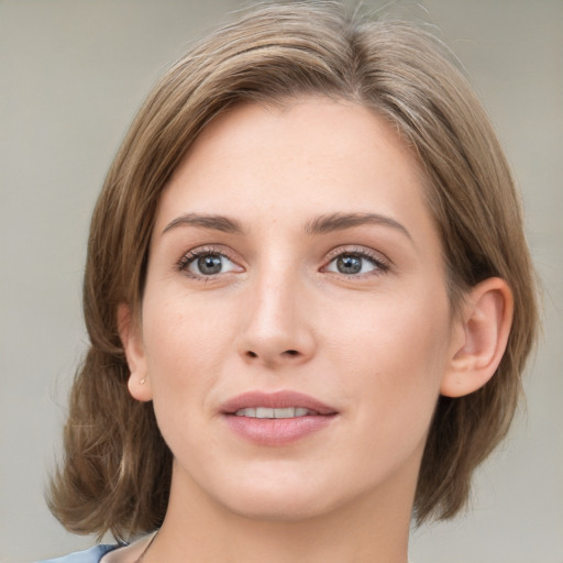
[[[460,339],[393,128],[322,98],[241,104],[163,194],[130,389],[173,496],[272,519],[410,501]]]

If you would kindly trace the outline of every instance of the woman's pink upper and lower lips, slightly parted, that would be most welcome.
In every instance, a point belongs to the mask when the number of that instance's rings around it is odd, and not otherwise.
[[[305,417],[269,419],[236,416],[244,408],[301,407],[314,411]],[[221,406],[227,426],[240,438],[257,445],[287,445],[327,428],[336,418],[338,410],[301,393],[283,390],[276,393],[249,391]]]

